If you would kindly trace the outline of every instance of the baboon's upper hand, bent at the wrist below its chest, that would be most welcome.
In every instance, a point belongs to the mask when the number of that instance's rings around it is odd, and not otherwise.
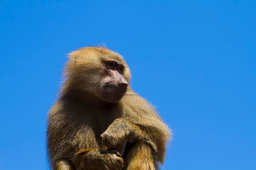
[[[107,149],[115,149],[124,142],[130,132],[130,125],[124,119],[116,119],[108,129],[101,134],[102,144]]]

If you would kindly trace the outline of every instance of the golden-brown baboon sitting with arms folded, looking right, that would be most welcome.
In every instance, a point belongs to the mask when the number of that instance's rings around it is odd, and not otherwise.
[[[106,47],[84,47],[68,57],[47,119],[50,167],[158,170],[171,131],[155,108],[132,91],[124,59]]]

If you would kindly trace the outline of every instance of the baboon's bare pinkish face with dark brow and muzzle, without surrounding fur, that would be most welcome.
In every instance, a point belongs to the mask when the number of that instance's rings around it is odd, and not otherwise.
[[[100,97],[107,102],[118,102],[126,93],[128,82],[122,75],[124,66],[116,60],[103,61]]]

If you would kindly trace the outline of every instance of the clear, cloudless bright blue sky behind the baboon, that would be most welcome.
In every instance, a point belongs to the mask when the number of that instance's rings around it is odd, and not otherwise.
[[[256,1],[0,2],[0,170],[48,169],[66,55],[119,52],[174,139],[164,170],[256,170]]]

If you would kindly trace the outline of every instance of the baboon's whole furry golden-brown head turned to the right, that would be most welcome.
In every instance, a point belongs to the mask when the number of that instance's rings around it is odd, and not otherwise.
[[[117,53],[104,48],[85,47],[70,53],[65,88],[74,88],[106,101],[119,102],[126,93],[130,71]]]

